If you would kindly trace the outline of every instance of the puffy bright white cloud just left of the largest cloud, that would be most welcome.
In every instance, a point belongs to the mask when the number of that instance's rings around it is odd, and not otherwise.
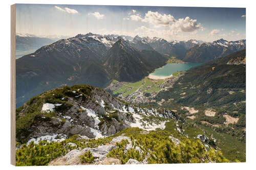
[[[172,15],[160,14],[158,12],[147,11],[143,22],[149,22],[153,25],[168,25],[171,22],[175,22],[175,18]]]

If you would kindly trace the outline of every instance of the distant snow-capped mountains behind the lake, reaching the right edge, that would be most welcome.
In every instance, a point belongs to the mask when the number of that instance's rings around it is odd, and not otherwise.
[[[227,41],[219,39],[213,42],[203,42],[190,39],[187,41],[167,41],[163,38],[134,37],[134,46],[139,50],[153,48],[158,53],[165,56],[175,56],[185,62],[208,62],[220,57],[224,57],[234,52],[246,48],[246,40]]]

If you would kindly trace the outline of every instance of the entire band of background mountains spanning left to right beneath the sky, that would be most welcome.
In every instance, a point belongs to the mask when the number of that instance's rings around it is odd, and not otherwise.
[[[38,39],[26,35],[16,39]],[[131,37],[129,37],[131,39]],[[40,38],[40,42],[50,39]],[[36,44],[36,43],[34,43]],[[39,45],[39,44],[38,44]],[[34,48],[34,47],[33,47]],[[245,40],[223,39],[203,43],[197,40],[166,41],[135,36],[88,33],[58,40],[16,60],[16,101],[22,105],[32,96],[63,85],[90,84],[105,87],[111,80],[136,82],[165,65],[168,57],[187,62],[207,62],[245,48]]]

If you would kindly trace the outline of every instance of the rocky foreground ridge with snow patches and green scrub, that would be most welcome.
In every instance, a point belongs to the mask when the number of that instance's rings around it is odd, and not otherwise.
[[[177,116],[169,110],[127,104],[86,85],[42,93],[18,108],[16,114],[17,140],[23,142],[72,135],[99,138],[129,127],[154,130],[164,127],[165,119]]]

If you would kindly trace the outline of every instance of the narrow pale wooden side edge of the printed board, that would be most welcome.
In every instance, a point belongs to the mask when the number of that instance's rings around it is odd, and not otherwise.
[[[16,6],[11,5],[11,164],[16,165],[15,144],[15,110],[16,110],[16,60],[15,60],[15,35],[16,35]]]

